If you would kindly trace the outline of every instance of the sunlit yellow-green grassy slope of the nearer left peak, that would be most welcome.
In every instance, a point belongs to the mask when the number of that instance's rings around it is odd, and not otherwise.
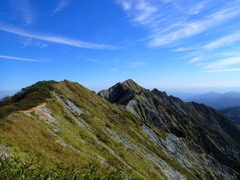
[[[58,162],[76,167],[94,162],[100,168],[121,168],[138,179],[166,179],[161,168],[144,155],[150,153],[189,179],[196,179],[193,173],[149,141],[139,129],[143,124],[141,119],[116,108],[77,83],[63,81],[51,87],[59,99],[63,102],[71,100],[83,113],[77,115],[67,111],[65,105],[50,94],[47,108],[52,112],[53,120],[35,112],[10,114],[0,122],[0,144],[13,155],[27,159],[27,154],[39,154],[44,156],[46,167],[54,167]],[[79,122],[85,124],[81,127]],[[164,137],[163,132],[156,130],[156,133]],[[132,148],[119,142],[116,134],[129,140]]]

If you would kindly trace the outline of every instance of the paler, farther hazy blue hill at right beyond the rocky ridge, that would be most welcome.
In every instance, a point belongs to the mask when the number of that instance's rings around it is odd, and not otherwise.
[[[186,102],[198,102],[211,106],[215,109],[226,109],[229,107],[240,106],[240,93],[228,92],[225,94],[210,92],[185,99]]]

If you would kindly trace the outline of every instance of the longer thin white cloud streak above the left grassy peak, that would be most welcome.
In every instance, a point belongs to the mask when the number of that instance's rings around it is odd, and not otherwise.
[[[26,32],[20,28],[4,26],[4,25],[0,25],[0,30],[13,33],[16,35],[28,37],[28,38],[38,39],[38,40],[52,42],[52,43],[64,44],[68,46],[75,46],[79,48],[88,48],[88,49],[116,49],[117,48],[115,46],[95,44],[91,42],[79,41],[79,40],[70,39],[70,38],[61,37],[61,36],[35,34],[31,32]]]

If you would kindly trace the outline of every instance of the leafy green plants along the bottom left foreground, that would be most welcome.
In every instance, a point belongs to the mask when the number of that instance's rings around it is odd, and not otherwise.
[[[29,157],[29,161],[21,158],[0,157],[0,180],[10,179],[74,179],[74,180],[122,180],[130,179],[121,170],[99,169],[92,163],[83,167],[66,166],[58,163],[51,169],[45,168],[44,158],[41,156]]]

